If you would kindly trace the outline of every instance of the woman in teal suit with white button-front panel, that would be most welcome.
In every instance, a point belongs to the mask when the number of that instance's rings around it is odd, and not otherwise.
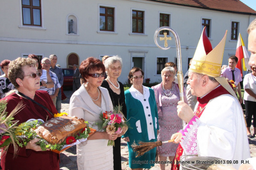
[[[124,134],[129,149],[129,165],[132,169],[151,168],[154,166],[156,148],[136,158],[131,145],[135,141],[157,141],[158,113],[154,90],[142,85],[144,72],[134,67],[129,72],[132,87],[124,92],[127,120],[130,128]]]

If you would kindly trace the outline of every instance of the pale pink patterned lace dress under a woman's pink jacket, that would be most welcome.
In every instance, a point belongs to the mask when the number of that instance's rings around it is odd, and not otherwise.
[[[175,83],[173,83],[172,89],[170,90],[162,89],[161,94],[163,116],[159,116],[159,134],[157,140],[166,141],[174,133],[182,129],[182,120],[177,114],[177,105],[180,98]],[[158,154],[164,157],[175,156],[178,145],[175,143],[163,143],[161,147],[157,147]]]

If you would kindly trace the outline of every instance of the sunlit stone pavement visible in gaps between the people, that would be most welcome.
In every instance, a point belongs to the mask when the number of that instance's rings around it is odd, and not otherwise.
[[[67,96],[66,101],[62,101],[61,112],[69,113],[69,102],[70,97],[72,95],[72,90],[65,90],[65,95]],[[251,127],[252,131],[252,127]],[[253,132],[252,132],[253,133]],[[256,138],[249,139],[249,146],[250,146],[250,153],[251,157],[256,157]],[[129,167],[129,152],[127,148],[127,143],[121,139],[121,156],[122,156],[122,170],[131,170]],[[62,170],[77,170],[77,163],[76,163],[76,146],[69,148],[68,150],[62,152],[60,154],[60,169]],[[155,164],[154,167],[150,168],[150,170],[158,170],[160,169],[158,164]],[[170,169],[170,165],[166,164],[165,169]]]

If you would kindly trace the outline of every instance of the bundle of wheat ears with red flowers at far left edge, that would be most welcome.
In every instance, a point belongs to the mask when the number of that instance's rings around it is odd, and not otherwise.
[[[6,101],[0,101],[0,149],[4,148],[4,150],[7,150],[9,144],[12,143],[15,155],[18,148],[15,143],[16,135],[14,134],[14,130],[18,121],[13,120],[13,116],[22,110],[25,105],[23,105],[22,102],[18,103],[9,115],[7,115],[8,112],[6,112],[6,105]]]

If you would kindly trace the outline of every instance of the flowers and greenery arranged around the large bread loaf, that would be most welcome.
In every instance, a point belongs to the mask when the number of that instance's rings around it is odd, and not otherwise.
[[[78,129],[78,131],[76,131],[75,133],[72,133],[71,135],[68,135],[66,137],[64,136],[65,138],[63,138],[63,140],[60,140],[60,142],[55,142],[55,143],[47,141],[47,139],[45,139],[44,137],[42,137],[40,135],[40,133],[38,133],[39,126],[42,127],[43,126],[42,124],[47,125],[48,127],[50,127],[54,123],[62,126],[64,121],[61,122],[61,119],[63,119],[61,117],[63,117],[63,115],[67,115],[67,113],[54,114],[54,117],[55,118],[58,117],[58,119],[54,119],[54,120],[50,119],[46,123],[39,122],[38,120],[32,120],[30,122],[25,122],[25,123],[20,124],[17,127],[17,129],[15,130],[15,134],[17,135],[17,138],[18,138],[17,144],[20,147],[26,147],[26,145],[28,144],[28,142],[30,140],[33,140],[35,137],[37,137],[37,138],[40,138],[40,140],[37,142],[37,144],[40,145],[40,148],[42,149],[42,151],[46,151],[47,149],[50,149],[53,152],[61,153],[65,150],[67,150],[68,148],[70,148],[72,145],[78,144],[82,141],[86,141],[89,134],[96,131],[96,130],[91,129],[88,126],[86,126],[85,128]],[[66,117],[66,116],[64,116],[64,117]],[[50,122],[50,121],[52,121],[52,122]],[[72,120],[72,122],[74,122],[74,121],[76,121],[76,120]],[[84,122],[84,123],[86,123],[88,125],[88,122]],[[77,124],[77,123],[75,123],[75,124]],[[67,125],[66,129],[67,129],[67,127],[72,128],[72,125]],[[49,134],[49,135],[51,135],[51,134]],[[53,136],[53,137],[55,137],[55,136]]]

